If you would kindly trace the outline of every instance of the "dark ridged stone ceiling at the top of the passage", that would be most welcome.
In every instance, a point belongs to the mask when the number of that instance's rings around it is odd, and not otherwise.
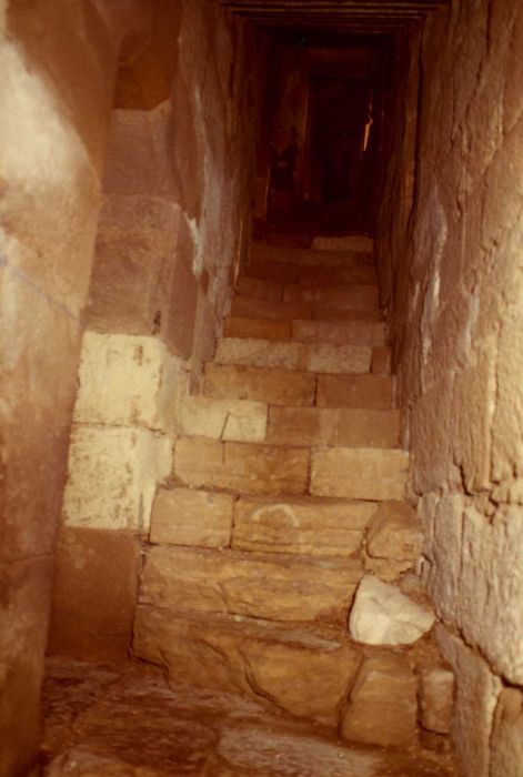
[[[222,6],[272,30],[394,32],[421,21],[447,0],[220,0]]]

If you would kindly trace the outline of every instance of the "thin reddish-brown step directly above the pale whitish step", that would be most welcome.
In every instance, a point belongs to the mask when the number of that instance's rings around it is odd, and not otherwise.
[[[385,324],[373,321],[279,321],[229,316],[223,322],[225,337],[252,337],[274,342],[333,343],[335,345],[385,344]]]

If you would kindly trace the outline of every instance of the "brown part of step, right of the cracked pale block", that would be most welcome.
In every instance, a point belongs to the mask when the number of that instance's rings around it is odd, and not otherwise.
[[[266,442],[274,445],[400,446],[396,410],[271,407]]]

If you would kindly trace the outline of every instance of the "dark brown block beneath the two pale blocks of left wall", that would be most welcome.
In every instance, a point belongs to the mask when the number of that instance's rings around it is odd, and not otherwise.
[[[112,529],[66,526],[60,534],[48,650],[80,660],[128,656],[141,547]]]

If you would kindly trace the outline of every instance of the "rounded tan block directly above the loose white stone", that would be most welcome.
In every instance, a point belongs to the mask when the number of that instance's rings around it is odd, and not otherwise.
[[[405,502],[384,502],[366,535],[365,568],[392,581],[419,559],[423,531],[415,512]]]

